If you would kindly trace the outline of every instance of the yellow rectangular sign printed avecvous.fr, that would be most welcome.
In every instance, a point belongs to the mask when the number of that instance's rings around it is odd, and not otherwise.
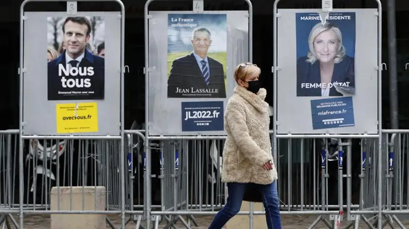
[[[98,132],[97,103],[56,104],[57,134]]]

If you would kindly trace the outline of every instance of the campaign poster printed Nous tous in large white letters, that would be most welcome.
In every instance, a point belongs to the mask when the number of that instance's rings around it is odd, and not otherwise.
[[[47,18],[48,100],[104,98],[102,17]]]

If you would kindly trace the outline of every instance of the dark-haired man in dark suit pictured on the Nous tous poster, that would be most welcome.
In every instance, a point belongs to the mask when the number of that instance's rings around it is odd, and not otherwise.
[[[86,17],[67,17],[62,32],[66,48],[48,63],[48,100],[103,99],[104,58],[86,49],[91,22]]]

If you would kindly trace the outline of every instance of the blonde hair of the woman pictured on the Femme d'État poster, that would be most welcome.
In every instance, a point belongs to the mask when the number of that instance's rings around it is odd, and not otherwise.
[[[344,59],[344,56],[346,55],[346,49],[344,45],[342,44],[341,30],[337,26],[329,22],[325,22],[324,24],[319,22],[314,27],[312,27],[311,32],[309,32],[309,36],[308,36],[309,51],[307,54],[308,59],[306,60],[308,63],[313,64],[315,63],[315,61],[317,61],[317,57],[314,52],[314,39],[318,35],[320,35],[322,32],[330,31],[330,30],[335,33],[335,36],[337,37],[337,41],[338,41],[338,51],[337,51],[337,54],[335,55],[334,63],[338,64]]]

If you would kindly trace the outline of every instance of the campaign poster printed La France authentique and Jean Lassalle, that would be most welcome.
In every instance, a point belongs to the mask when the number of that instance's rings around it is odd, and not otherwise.
[[[226,98],[226,14],[168,14],[167,97]]]

